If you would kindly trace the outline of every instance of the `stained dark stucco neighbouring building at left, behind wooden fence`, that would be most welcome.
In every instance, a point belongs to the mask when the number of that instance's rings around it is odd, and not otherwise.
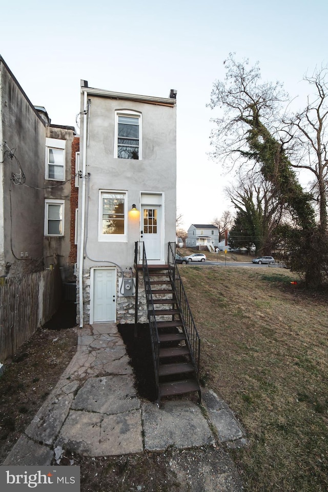
[[[0,56],[0,274],[19,277],[58,262],[74,279],[77,208],[73,126],[34,106]],[[54,257],[55,255],[55,257]]]

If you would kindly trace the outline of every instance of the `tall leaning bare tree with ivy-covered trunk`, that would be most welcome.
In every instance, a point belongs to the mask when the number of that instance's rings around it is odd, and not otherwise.
[[[289,238],[286,238],[290,246],[290,266],[304,273],[307,286],[318,288],[328,263],[327,231],[321,222],[316,222],[313,195],[302,188],[293,169],[293,159],[297,158],[296,163],[300,164],[299,149],[303,142],[291,129],[296,127],[301,131],[300,117],[289,125],[283,122],[280,112],[286,95],[280,83],[261,82],[258,65],[248,69],[248,61],[236,62],[233,55],[225,65],[226,80],[215,82],[211,95],[211,107],[223,111],[214,120],[217,125],[211,142],[215,147],[214,156],[231,167],[248,164],[248,170],[260,173],[271,183],[276,197],[293,219]],[[322,98],[319,98],[318,111],[320,104]],[[310,133],[313,121],[309,111],[302,114],[302,122],[308,121]],[[323,115],[325,117],[325,113]],[[318,121],[319,134],[323,135],[320,133],[322,118]],[[312,142],[316,144],[315,140]],[[323,148],[324,155],[325,143],[322,146],[317,140],[316,145]]]

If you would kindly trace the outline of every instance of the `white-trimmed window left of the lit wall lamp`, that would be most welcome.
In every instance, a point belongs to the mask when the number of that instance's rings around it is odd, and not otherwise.
[[[99,240],[126,241],[127,194],[124,191],[100,190]]]

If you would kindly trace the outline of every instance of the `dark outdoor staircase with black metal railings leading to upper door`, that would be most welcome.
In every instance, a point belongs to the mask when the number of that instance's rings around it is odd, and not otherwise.
[[[169,243],[167,265],[148,265],[145,248],[142,258],[158,404],[195,391],[200,401],[200,338],[175,265],[175,244]]]

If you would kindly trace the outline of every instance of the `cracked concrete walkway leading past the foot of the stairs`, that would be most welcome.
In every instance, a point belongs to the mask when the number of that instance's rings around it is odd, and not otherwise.
[[[76,354],[3,464],[49,465],[65,448],[96,457],[246,443],[240,423],[214,392],[202,391],[202,407],[183,399],[161,409],[140,401],[116,325],[87,326],[78,329]],[[227,474],[229,457],[222,468],[222,450],[218,456],[217,469]],[[236,473],[229,481],[227,490],[240,490]]]

